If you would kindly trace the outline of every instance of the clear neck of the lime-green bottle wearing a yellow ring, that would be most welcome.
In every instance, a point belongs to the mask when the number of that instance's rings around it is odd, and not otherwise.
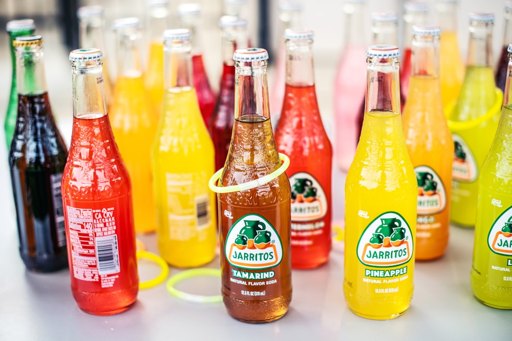
[[[493,24],[472,22],[467,48],[468,66],[493,66]]]

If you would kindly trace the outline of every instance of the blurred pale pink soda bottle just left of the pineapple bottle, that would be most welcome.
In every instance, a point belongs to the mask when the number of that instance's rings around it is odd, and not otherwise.
[[[345,43],[334,83],[334,152],[338,168],[349,170],[357,146],[357,114],[365,96],[366,10],[364,0],[346,0]]]

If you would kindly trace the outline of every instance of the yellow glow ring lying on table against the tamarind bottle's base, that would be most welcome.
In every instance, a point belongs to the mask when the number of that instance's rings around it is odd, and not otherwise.
[[[193,293],[184,292],[176,289],[174,286],[176,283],[183,281],[188,278],[198,277],[198,276],[213,276],[213,277],[221,277],[220,269],[211,269],[211,268],[198,268],[198,269],[190,269],[178,272],[178,274],[171,276],[166,283],[167,291],[173,296],[195,303],[215,303],[222,301],[222,295],[214,295],[214,296],[203,296],[196,295]]]

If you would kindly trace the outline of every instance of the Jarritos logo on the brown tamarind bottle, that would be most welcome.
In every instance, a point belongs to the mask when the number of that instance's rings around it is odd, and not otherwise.
[[[283,259],[279,234],[259,214],[238,219],[229,229],[224,247],[229,264],[243,269],[267,269],[279,265]]]

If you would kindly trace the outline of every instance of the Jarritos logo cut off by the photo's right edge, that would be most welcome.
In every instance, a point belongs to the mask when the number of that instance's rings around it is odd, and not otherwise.
[[[487,243],[494,253],[512,256],[512,206],[494,221]]]

